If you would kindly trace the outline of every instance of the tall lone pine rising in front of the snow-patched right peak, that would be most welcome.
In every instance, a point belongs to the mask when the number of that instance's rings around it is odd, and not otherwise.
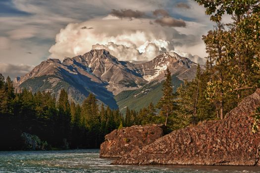
[[[165,123],[167,125],[168,117],[173,113],[174,110],[174,96],[173,96],[173,88],[171,83],[171,73],[167,68],[165,74],[166,80],[163,82],[163,94],[160,98],[159,102],[157,103],[157,108],[159,108],[160,114],[164,115]]]

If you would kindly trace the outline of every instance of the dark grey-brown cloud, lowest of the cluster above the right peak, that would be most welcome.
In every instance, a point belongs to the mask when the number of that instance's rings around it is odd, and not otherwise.
[[[178,20],[170,16],[161,17],[156,19],[155,22],[161,26],[186,27],[186,23],[183,20]]]

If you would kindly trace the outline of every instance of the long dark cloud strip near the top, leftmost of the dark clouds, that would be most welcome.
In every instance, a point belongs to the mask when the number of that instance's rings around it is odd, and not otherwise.
[[[141,18],[145,15],[144,12],[139,11],[139,10],[132,10],[132,9],[121,9],[121,10],[116,10],[116,9],[112,9],[111,13],[112,16],[116,16],[119,18]]]

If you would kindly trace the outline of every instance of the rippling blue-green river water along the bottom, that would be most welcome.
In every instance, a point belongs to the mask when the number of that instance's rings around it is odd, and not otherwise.
[[[114,166],[99,150],[0,151],[0,173],[260,173],[257,167]]]

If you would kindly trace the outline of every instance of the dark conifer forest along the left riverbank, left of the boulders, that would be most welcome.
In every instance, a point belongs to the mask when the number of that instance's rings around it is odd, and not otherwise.
[[[22,149],[22,132],[39,136],[50,148],[64,148],[64,139],[70,148],[99,148],[104,135],[124,121],[119,110],[99,109],[93,94],[81,106],[69,102],[64,89],[58,95],[56,101],[50,92],[23,88],[14,93],[10,79],[0,75],[0,137],[5,141],[0,149]]]

